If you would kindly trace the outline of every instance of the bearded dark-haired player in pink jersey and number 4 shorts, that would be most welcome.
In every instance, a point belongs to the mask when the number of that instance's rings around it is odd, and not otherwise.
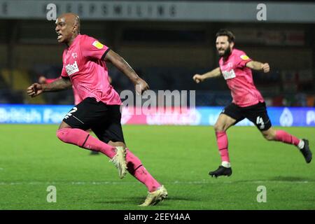
[[[231,31],[225,29],[218,31],[216,49],[221,57],[220,66],[202,75],[193,76],[196,83],[207,78],[223,76],[232,94],[232,103],[225,107],[214,125],[222,163],[218,169],[209,172],[209,175],[218,177],[232,174],[226,131],[244,118],[251,120],[268,141],[281,141],[297,146],[305,161],[311,162],[312,155],[307,139],[298,139],[283,130],[274,130],[267,114],[265,101],[253,83],[251,69],[267,73],[269,64],[253,61],[245,52],[234,48],[234,45],[235,36]]]

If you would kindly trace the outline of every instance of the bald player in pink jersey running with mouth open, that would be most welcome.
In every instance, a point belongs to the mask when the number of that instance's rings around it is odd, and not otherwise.
[[[36,97],[43,92],[73,88],[82,101],[66,114],[59,125],[57,137],[67,144],[74,144],[91,151],[99,151],[111,158],[118,169],[120,179],[130,172],[148,188],[148,196],[141,206],[155,205],[167,198],[167,190],[144,168],[125,145],[120,119],[119,94],[109,83],[106,62],[111,62],[132,80],[136,92],[148,90],[132,67],[116,52],[96,39],[80,34],[78,15],[66,13],[56,20],[57,41],[65,43],[62,55],[61,76],[52,83],[38,84],[27,88],[27,94]],[[91,129],[97,138],[85,130]]]

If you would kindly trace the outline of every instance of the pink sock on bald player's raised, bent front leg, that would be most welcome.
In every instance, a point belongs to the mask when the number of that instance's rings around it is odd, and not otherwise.
[[[99,139],[95,139],[87,132],[78,128],[62,128],[61,130],[57,130],[57,137],[65,143],[73,144],[92,151],[99,151],[107,155],[109,158],[113,158],[113,156],[116,155],[115,147],[110,146]]]

